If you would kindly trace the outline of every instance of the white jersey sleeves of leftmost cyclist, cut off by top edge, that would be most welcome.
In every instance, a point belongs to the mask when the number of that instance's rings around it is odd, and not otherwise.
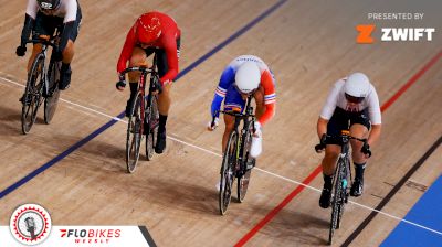
[[[39,12],[36,0],[28,0],[27,14],[35,20]],[[63,23],[75,21],[78,6],[76,0],[60,0],[60,7],[54,11],[53,15],[64,18]]]

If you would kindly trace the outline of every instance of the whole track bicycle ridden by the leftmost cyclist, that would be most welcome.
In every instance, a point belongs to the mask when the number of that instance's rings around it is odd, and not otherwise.
[[[55,50],[60,42],[60,31],[55,35],[39,35],[25,43],[38,43],[42,45],[42,51],[36,54],[28,74],[27,86],[24,89],[21,110],[21,129],[28,133],[36,119],[36,112],[44,101],[44,122],[49,125],[54,117],[60,98],[60,69],[61,61],[55,61]],[[49,62],[46,61],[49,47],[52,53]]]

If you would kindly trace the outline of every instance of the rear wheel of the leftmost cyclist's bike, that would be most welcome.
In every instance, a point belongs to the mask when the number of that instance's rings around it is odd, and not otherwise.
[[[60,80],[61,62],[51,62],[49,65],[49,95],[44,98],[44,122],[49,125],[54,117],[59,105],[60,89],[57,82]]]

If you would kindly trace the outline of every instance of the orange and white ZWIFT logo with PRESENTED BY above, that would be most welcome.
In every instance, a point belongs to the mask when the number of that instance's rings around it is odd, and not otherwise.
[[[376,20],[398,20],[412,21],[423,20],[424,13],[368,13],[367,18],[370,21]],[[376,36],[377,30],[380,30],[380,36]],[[433,40],[436,32],[435,28],[394,28],[380,26],[379,24],[359,24],[356,25],[358,35],[356,43],[372,44],[377,41],[381,42],[429,42]]]

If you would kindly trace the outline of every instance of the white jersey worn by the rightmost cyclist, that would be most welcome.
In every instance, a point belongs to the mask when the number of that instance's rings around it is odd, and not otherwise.
[[[360,112],[368,108],[368,115],[372,125],[381,124],[381,115],[379,107],[379,98],[375,87],[370,84],[370,89],[367,97],[358,105],[351,106],[345,97],[344,84],[347,78],[339,79],[335,83],[327,101],[320,111],[320,117],[330,120],[336,107],[339,107],[349,112]]]

